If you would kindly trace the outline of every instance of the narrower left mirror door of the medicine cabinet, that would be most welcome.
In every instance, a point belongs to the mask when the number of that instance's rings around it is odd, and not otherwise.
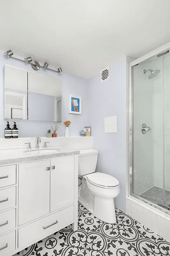
[[[8,65],[4,70],[4,116],[27,120],[27,71]]]

